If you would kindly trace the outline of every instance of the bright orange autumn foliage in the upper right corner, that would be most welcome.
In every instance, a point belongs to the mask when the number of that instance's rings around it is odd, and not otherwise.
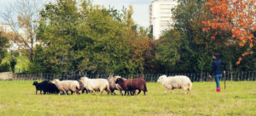
[[[202,24],[206,27],[204,31],[215,30],[212,40],[221,31],[232,32],[232,37],[239,41],[239,46],[248,46],[242,57],[253,54],[253,47],[256,45],[256,1],[255,0],[209,0],[205,3],[212,13],[213,19],[204,20]],[[241,57],[236,64],[241,63]]]

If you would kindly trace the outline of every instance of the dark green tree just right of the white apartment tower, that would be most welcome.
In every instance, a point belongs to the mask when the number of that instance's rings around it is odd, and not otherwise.
[[[208,37],[210,34],[201,31],[204,27],[201,20],[211,18],[207,15],[204,1],[180,0],[172,12],[174,20],[172,30],[179,33],[180,38],[177,41],[181,44],[177,51],[181,60],[177,61],[176,68],[172,71],[209,71],[208,59],[212,57],[213,50],[218,50],[214,44],[222,41],[213,43]]]

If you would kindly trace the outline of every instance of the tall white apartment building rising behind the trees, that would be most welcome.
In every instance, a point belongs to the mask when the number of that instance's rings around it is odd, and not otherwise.
[[[172,8],[177,0],[154,0],[149,6],[149,25],[153,26],[153,37],[159,39],[163,30],[172,26]]]

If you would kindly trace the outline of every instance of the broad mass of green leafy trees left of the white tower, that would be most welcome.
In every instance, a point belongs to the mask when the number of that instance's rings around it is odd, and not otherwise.
[[[143,60],[132,58],[135,49],[131,45],[132,39],[146,32],[137,34],[132,8],[120,13],[90,1],[67,0],[45,5],[40,14],[37,37],[44,44],[36,53],[47,57],[35,55],[43,62],[39,60],[34,66],[44,67],[46,72],[90,74],[137,73],[143,69]]]

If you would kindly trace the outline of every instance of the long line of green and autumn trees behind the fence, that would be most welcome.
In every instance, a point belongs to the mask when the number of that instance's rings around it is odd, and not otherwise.
[[[37,39],[41,44],[34,48],[26,73],[209,72],[213,52],[219,52],[227,71],[255,71],[255,53],[236,65],[247,46],[239,47],[230,32],[223,31],[212,40],[215,32],[202,30],[202,20],[212,18],[204,1],[179,1],[172,13],[172,30],[155,41],[152,28],[143,29],[134,23],[132,7],[119,11],[87,0],[46,4],[38,20]]]

